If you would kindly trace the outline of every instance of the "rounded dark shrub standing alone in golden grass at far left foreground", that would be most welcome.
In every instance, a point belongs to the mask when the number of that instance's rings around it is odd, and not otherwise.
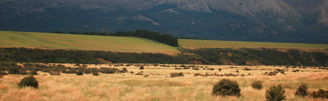
[[[18,84],[17,86],[19,87],[26,87],[26,86],[30,86],[30,87],[34,87],[34,88],[38,88],[39,87],[39,83],[36,81],[36,79],[33,76],[28,76],[28,77],[24,77]]]

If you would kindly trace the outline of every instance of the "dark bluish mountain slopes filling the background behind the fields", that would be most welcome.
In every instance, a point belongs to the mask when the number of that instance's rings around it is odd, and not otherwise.
[[[4,0],[0,30],[148,29],[213,40],[328,44],[328,0]]]

